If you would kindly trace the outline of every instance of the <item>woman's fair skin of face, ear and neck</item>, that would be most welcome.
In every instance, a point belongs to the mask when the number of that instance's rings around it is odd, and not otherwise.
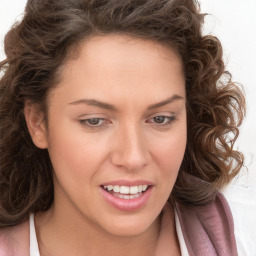
[[[48,98],[48,127],[26,104],[31,137],[54,168],[54,203],[35,217],[41,256],[155,255],[186,147],[185,97],[174,50],[107,35],[83,42],[66,63]],[[103,196],[110,183],[148,185],[148,196],[135,208],[119,198],[117,207]],[[170,233],[180,255],[173,216]]]

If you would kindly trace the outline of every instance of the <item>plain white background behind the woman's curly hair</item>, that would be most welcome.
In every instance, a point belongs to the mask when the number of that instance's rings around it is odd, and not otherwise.
[[[235,81],[244,85],[247,116],[241,127],[237,147],[246,157],[235,184],[256,188],[256,0],[201,0],[206,18],[205,33],[221,40],[227,69]],[[25,0],[0,0],[0,60],[4,59],[4,35],[22,17]]]

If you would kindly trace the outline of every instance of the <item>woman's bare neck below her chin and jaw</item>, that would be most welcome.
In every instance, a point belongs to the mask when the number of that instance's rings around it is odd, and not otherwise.
[[[72,217],[71,217],[72,216]],[[143,233],[116,236],[86,221],[79,214],[69,214],[54,205],[35,218],[40,255],[155,255],[161,216]],[[74,249],[75,248],[75,249]]]

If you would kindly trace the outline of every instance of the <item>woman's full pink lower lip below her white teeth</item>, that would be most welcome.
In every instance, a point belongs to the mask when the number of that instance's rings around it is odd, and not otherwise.
[[[123,199],[108,193],[101,187],[103,197],[113,207],[121,211],[135,211],[143,207],[150,198],[152,186],[150,186],[141,196],[133,199]]]

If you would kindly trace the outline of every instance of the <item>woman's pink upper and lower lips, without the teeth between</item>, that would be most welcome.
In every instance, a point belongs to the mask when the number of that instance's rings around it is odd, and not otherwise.
[[[111,193],[107,192],[103,188],[103,186],[105,186],[105,185],[138,186],[138,185],[152,185],[152,182],[143,181],[143,180],[132,181],[132,182],[125,181],[125,180],[119,180],[119,181],[103,184],[100,187],[100,189],[101,189],[104,199],[111,206],[113,206],[121,211],[135,211],[135,210],[138,210],[141,207],[143,207],[147,203],[148,199],[150,198],[150,195],[151,195],[151,192],[153,189],[153,187],[150,186],[150,187],[148,187],[148,189],[145,192],[142,193],[142,195],[140,195],[137,198],[123,199],[123,198],[116,197],[116,196],[112,195]]]

